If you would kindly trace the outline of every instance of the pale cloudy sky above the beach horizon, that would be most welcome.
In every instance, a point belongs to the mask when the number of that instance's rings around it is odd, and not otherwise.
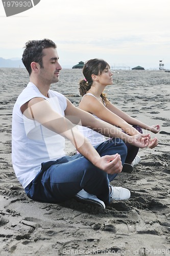
[[[103,58],[111,67],[170,69],[169,0],[41,0],[6,17],[0,2],[0,57],[21,58],[28,40],[50,38],[60,64]]]

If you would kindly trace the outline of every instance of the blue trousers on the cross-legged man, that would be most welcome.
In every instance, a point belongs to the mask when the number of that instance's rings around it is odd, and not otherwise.
[[[124,164],[127,147],[122,140],[113,138],[96,145],[95,148],[100,156],[118,153]],[[117,174],[108,175],[81,154],[76,154],[42,163],[40,172],[25,191],[33,200],[60,203],[84,189],[107,204],[110,202],[109,181],[116,176]]]

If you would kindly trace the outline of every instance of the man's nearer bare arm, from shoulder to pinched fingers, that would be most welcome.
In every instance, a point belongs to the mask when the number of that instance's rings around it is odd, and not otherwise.
[[[55,112],[47,100],[33,98],[21,107],[21,111],[27,118],[39,122],[47,129],[70,140],[84,157],[104,172],[116,174],[122,171],[120,155],[101,157],[87,138],[75,127],[75,124]]]

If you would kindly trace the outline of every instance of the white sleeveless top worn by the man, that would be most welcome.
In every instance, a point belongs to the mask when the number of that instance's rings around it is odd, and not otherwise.
[[[22,114],[21,106],[35,97],[47,100],[62,116],[67,106],[66,98],[62,94],[49,90],[47,98],[32,82],[18,96],[12,114],[12,164],[23,188],[39,173],[42,162],[65,156],[65,139],[61,135]]]

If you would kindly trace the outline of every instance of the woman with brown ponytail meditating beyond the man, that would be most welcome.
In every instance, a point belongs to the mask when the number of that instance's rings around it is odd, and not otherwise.
[[[93,114],[96,118],[102,119],[110,124],[120,127],[125,133],[133,136],[142,133],[141,129],[149,130],[153,133],[160,131],[160,125],[149,126],[139,120],[127,115],[113,105],[103,93],[106,86],[113,84],[113,73],[110,66],[103,59],[90,59],[86,61],[83,68],[84,80],[80,81],[80,94],[82,97],[79,108]],[[87,127],[80,127],[80,130],[95,145],[103,142],[105,137]],[[132,172],[133,165],[140,161],[137,156],[138,147],[126,143],[128,154],[123,168],[124,172]],[[151,139],[150,148],[158,145],[157,138]]]

